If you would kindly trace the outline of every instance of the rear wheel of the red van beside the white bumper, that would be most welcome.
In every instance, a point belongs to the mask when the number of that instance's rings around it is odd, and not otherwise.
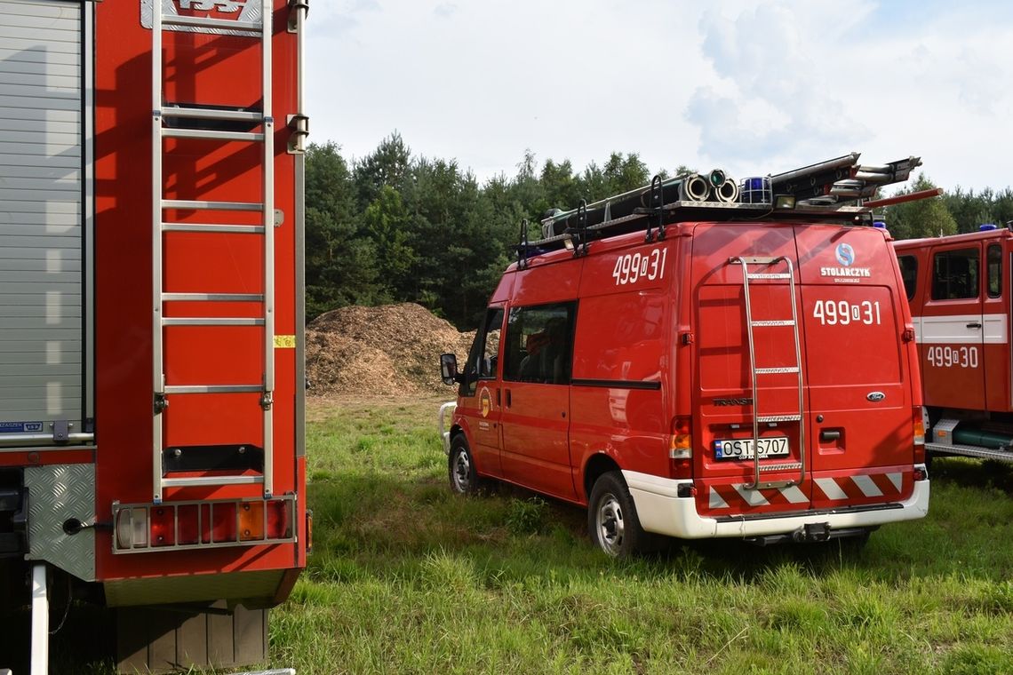
[[[607,556],[629,558],[644,551],[650,538],[640,527],[629,488],[619,472],[595,481],[588,502],[591,540]]]

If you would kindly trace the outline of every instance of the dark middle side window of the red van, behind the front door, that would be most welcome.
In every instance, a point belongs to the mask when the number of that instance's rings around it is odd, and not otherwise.
[[[576,303],[511,309],[503,379],[569,384],[575,316]]]

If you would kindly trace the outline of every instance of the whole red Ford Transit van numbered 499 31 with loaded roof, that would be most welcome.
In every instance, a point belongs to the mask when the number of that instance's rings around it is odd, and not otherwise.
[[[655,178],[522,236],[463,373],[441,358],[460,385],[441,411],[452,489],[496,479],[586,506],[612,556],[923,517],[901,275],[869,208],[841,199],[919,162],[857,159],[742,189],[719,171]]]

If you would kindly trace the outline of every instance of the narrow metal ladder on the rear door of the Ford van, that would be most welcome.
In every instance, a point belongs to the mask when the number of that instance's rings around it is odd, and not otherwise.
[[[753,388],[753,483],[746,485],[748,490],[762,490],[765,488],[786,488],[792,485],[800,485],[805,480],[805,424],[802,420],[804,410],[805,387],[802,379],[802,351],[798,337],[798,309],[795,305],[795,270],[791,260],[786,256],[778,257],[758,257],[738,256],[728,260],[730,264],[743,266],[743,290],[745,292],[744,303],[746,305],[746,336],[750,347],[750,383]],[[786,272],[770,271],[772,267],[784,263]],[[750,266],[763,266],[765,271],[750,272]],[[750,302],[750,281],[751,280],[787,280],[788,297],[791,302],[791,319],[774,320],[753,320],[753,306]],[[756,340],[753,331],[756,328],[771,328],[775,326],[790,326],[795,341],[795,362],[791,365],[780,365],[771,367],[758,367],[756,358]],[[761,413],[760,400],[758,398],[757,379],[764,375],[794,373],[798,381],[798,413],[787,415],[764,415]],[[780,422],[798,423],[798,457],[799,461],[779,462],[760,465],[760,425],[776,424]],[[797,480],[766,481],[760,480],[760,475],[771,472],[798,471]]]

